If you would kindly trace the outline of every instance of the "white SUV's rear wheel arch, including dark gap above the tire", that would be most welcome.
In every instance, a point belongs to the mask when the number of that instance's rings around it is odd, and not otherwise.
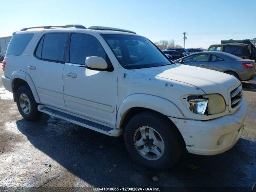
[[[12,72],[11,76],[11,85],[12,85],[12,93],[14,101],[16,101],[15,94],[18,88],[22,85],[28,85],[36,102],[40,103],[40,98],[38,96],[38,93],[36,91],[36,87],[34,85],[34,82],[32,81],[31,77],[24,71],[16,70]]]

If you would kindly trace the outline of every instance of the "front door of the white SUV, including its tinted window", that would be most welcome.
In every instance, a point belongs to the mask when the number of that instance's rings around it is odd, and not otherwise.
[[[90,70],[84,63],[88,56],[99,56],[112,66],[102,45],[92,35],[71,34],[68,55],[63,71],[67,111],[115,127],[117,70]]]

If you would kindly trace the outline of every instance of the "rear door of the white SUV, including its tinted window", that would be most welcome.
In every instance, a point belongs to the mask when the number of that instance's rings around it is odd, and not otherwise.
[[[62,72],[67,37],[67,33],[44,34],[27,64],[27,72],[36,86],[40,101],[62,110],[66,110]]]

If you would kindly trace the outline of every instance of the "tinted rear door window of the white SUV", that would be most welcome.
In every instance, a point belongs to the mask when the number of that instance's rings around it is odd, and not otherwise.
[[[45,34],[44,42],[42,44],[41,58],[54,61],[63,61],[66,38],[66,33]],[[40,44],[38,45],[38,49],[40,49]]]

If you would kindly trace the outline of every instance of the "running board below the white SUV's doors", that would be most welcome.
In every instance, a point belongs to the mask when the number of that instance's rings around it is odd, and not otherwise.
[[[102,125],[102,124],[98,124],[96,122],[92,122],[90,120],[86,120],[84,118],[80,118],[77,116],[74,116],[72,114],[68,114],[65,112],[61,112],[59,110],[55,110],[53,108],[47,107],[45,105],[38,105],[38,111],[41,111],[43,113],[70,121],[72,123],[78,124],[80,126],[83,126],[85,128],[109,135],[109,136],[120,136],[122,134],[122,130],[121,129],[113,129],[111,127]]]

